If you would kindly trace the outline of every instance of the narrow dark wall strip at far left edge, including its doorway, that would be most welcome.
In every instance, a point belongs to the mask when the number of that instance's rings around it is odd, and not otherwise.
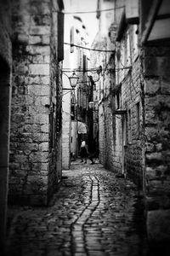
[[[0,2],[0,247],[6,236],[12,73],[11,6]]]

